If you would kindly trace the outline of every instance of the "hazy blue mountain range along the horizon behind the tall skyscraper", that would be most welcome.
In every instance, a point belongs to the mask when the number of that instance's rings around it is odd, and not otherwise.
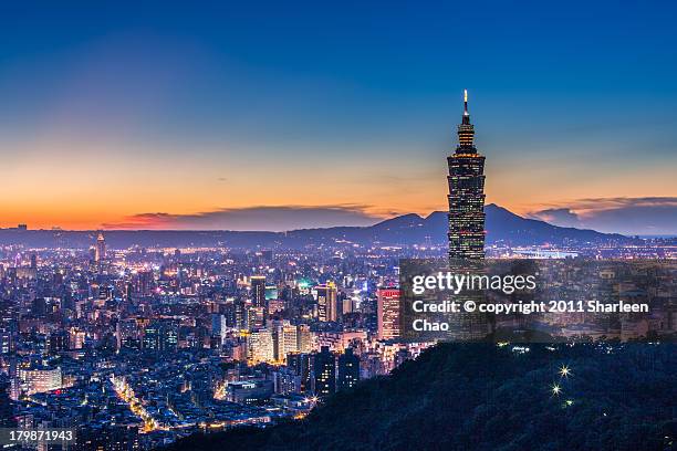
[[[552,226],[522,218],[493,203],[486,206],[487,244],[554,245],[572,243],[628,243],[633,239],[615,233],[601,233]],[[105,239],[113,249],[139,247],[215,247],[230,248],[303,248],[306,245],[444,245],[447,242],[447,213],[435,211],[424,218],[404,214],[369,227],[333,227],[300,229],[289,232],[264,231],[174,231],[108,230]],[[88,248],[95,231],[0,229],[0,245],[23,244],[30,248]]]

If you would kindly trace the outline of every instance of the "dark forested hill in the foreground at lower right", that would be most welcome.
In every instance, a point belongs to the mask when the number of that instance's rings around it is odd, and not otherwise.
[[[194,436],[171,450],[673,449],[675,345],[527,346],[438,345],[303,421]]]

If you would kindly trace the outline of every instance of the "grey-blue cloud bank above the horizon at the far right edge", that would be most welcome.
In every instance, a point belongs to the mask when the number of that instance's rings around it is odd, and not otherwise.
[[[555,226],[601,232],[677,235],[677,197],[579,199],[529,216]]]

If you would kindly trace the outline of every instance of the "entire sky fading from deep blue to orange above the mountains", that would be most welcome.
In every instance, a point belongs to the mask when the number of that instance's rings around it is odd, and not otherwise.
[[[488,202],[677,233],[677,3],[15,3],[0,6],[0,227],[442,210],[468,88]]]

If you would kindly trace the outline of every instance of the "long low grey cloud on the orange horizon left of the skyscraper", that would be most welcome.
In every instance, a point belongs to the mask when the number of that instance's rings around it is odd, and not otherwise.
[[[383,218],[367,213],[369,206],[280,206],[223,208],[194,214],[138,213],[104,229],[133,230],[257,230],[285,231],[334,226],[372,226]]]

